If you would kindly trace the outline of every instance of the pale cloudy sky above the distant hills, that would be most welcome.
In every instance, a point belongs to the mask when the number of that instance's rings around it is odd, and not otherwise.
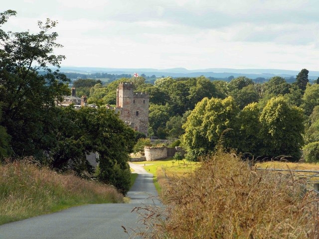
[[[318,0],[5,0],[1,29],[57,20],[61,66],[319,70]]]

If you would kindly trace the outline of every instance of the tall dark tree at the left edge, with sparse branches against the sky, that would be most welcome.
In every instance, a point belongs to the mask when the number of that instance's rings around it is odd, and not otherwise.
[[[15,14],[0,13],[0,26]],[[70,94],[68,79],[58,70],[64,56],[53,54],[61,47],[52,31],[55,25],[47,19],[38,22],[38,33],[0,30],[1,125],[11,136],[15,155],[40,157],[49,150],[55,136],[50,129],[52,109],[56,100]]]

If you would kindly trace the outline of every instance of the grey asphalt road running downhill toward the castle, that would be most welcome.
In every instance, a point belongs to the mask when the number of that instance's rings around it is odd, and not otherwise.
[[[128,239],[141,228],[135,207],[160,206],[153,175],[139,165],[128,204],[90,204],[0,226],[0,239]],[[124,226],[128,233],[124,232]],[[130,235],[131,237],[130,237]]]

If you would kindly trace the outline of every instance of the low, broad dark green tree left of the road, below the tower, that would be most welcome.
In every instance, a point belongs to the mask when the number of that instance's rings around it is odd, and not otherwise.
[[[48,152],[57,170],[90,171],[86,153],[98,152],[98,178],[126,194],[130,187],[129,154],[134,130],[106,108],[56,108],[56,143]]]

